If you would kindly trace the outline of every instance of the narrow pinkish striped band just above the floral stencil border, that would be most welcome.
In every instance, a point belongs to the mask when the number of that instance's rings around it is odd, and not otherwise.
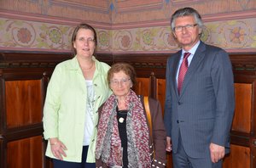
[[[59,17],[46,16],[42,14],[26,14],[16,11],[9,11],[0,9],[0,19],[7,18],[13,20],[27,20],[27,21],[37,21],[50,24],[60,24],[60,25],[77,25],[83,20],[71,20],[63,19]],[[213,21],[224,21],[224,20],[240,20],[240,19],[249,19],[256,18],[256,10],[248,10],[241,12],[233,12],[226,14],[212,14],[212,15],[203,15],[202,19],[205,22]],[[150,27],[150,26],[163,26],[170,25],[170,20],[152,20],[152,21],[142,21],[142,22],[130,22],[122,24],[107,24],[98,21],[87,21],[87,23],[96,26],[97,28],[106,29],[106,30],[119,30],[119,29],[131,29],[131,28],[141,28],[141,27]]]

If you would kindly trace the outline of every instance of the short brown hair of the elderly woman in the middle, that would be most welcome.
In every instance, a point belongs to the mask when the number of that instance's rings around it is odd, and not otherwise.
[[[136,71],[131,64],[127,63],[116,63],[111,66],[108,70],[108,83],[110,83],[110,80],[113,78],[113,74],[119,71],[125,72],[125,75],[130,77],[132,85],[136,84]]]

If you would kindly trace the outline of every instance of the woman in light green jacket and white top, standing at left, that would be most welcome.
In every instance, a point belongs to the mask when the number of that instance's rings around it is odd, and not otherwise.
[[[74,58],[57,64],[44,103],[46,155],[55,168],[95,165],[97,109],[111,94],[108,64],[99,62],[96,31],[78,25],[72,36]]]

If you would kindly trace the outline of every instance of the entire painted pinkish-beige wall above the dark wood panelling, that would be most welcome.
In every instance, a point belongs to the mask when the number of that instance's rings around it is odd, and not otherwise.
[[[69,52],[73,27],[96,27],[98,53],[173,53],[170,18],[196,8],[204,42],[230,53],[256,52],[255,0],[0,0],[0,50]]]

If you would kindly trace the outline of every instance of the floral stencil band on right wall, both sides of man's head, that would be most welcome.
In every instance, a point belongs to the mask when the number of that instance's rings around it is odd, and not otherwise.
[[[228,20],[205,23],[201,40],[227,50],[256,51],[256,20]],[[168,52],[177,50],[170,26],[113,31],[113,50],[117,52]]]

